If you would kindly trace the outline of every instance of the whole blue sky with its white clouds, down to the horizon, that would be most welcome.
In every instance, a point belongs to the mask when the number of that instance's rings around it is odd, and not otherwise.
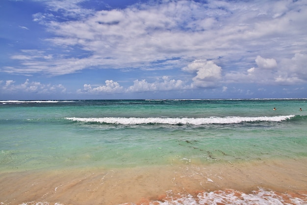
[[[306,98],[306,0],[1,0],[0,100]]]

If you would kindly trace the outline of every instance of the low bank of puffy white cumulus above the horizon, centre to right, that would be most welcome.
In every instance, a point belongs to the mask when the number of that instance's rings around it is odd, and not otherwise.
[[[192,83],[190,85],[187,84],[187,81],[170,79],[168,76],[163,76],[162,78],[157,78],[154,82],[148,82],[145,79],[134,80],[133,85],[128,88],[124,88],[113,80],[106,80],[103,86],[84,84],[83,89],[78,89],[77,92],[98,94],[187,90],[196,87],[218,87],[222,82],[236,83],[238,81],[241,83],[252,82],[256,84],[276,85],[293,85],[303,82],[303,79],[295,75],[298,73],[296,69],[298,69],[298,67],[301,68],[302,65],[306,63],[304,55],[297,54],[292,59],[284,59],[285,65],[291,64],[292,69],[290,70],[285,68],[282,69],[274,59],[265,59],[257,56],[255,61],[258,62],[258,67],[249,68],[245,72],[230,72],[222,76],[222,67],[215,64],[212,60],[194,60],[182,68],[182,71],[192,74]],[[285,65],[283,67],[285,67]],[[292,71],[295,75],[291,75]],[[302,76],[306,75],[306,71],[302,70],[301,74]],[[226,91],[228,91],[228,87],[222,87],[222,92]],[[253,91],[249,90],[246,94],[251,95]]]

